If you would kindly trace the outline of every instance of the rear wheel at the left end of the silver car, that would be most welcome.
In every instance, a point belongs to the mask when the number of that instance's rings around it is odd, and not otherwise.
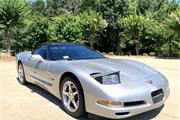
[[[20,77],[20,69],[22,70],[21,71],[22,72],[22,76],[21,77]],[[25,73],[24,73],[24,67],[23,67],[23,64],[21,62],[19,62],[19,64],[18,64],[18,82],[21,85],[26,85],[27,84]]]

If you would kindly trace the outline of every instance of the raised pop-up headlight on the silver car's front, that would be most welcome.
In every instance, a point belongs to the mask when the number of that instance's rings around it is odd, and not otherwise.
[[[98,74],[93,77],[103,85],[112,85],[112,84],[120,83],[119,72],[104,74],[104,75]]]

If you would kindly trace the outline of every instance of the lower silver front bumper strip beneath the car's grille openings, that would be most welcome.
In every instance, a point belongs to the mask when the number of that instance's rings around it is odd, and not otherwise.
[[[152,98],[145,99],[146,103],[142,105],[119,107],[119,108],[110,108],[96,103],[93,111],[87,111],[87,112],[111,119],[128,118],[161,107],[168,98],[170,89],[169,88],[167,88],[166,90],[163,89],[163,92],[164,92],[164,98],[158,103],[153,103]]]

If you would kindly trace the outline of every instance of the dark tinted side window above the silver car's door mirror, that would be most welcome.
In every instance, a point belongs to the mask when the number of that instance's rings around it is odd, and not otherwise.
[[[43,59],[47,59],[47,49],[46,47],[40,47],[34,52],[34,55],[40,55]]]

